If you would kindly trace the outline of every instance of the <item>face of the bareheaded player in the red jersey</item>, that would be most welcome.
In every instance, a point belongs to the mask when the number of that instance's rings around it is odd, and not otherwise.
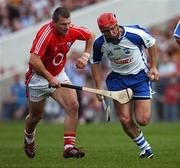
[[[59,17],[59,20],[55,23],[54,26],[58,34],[66,35],[68,33],[69,27],[71,24],[71,18]]]

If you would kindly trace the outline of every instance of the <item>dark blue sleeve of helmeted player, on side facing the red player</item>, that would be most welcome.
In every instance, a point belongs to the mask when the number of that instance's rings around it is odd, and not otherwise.
[[[102,45],[104,44],[104,37],[100,36],[93,44],[93,62],[100,62],[103,56],[101,52]]]

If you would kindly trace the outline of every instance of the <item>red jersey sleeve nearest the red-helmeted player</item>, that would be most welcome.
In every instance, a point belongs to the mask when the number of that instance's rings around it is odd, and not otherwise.
[[[92,32],[90,32],[87,28],[82,26],[71,25],[71,29],[73,30],[72,36],[77,40],[88,40],[92,36]]]

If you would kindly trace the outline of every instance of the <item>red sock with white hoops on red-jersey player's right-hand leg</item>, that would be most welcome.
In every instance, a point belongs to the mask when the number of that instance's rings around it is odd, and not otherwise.
[[[64,149],[74,147],[76,141],[75,133],[65,133],[64,134]]]

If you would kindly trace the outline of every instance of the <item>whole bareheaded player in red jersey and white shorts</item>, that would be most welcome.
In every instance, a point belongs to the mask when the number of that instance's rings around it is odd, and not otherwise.
[[[35,156],[35,131],[44,113],[45,99],[51,96],[66,111],[64,121],[65,158],[83,157],[84,152],[75,147],[78,108],[76,91],[61,88],[69,83],[64,65],[66,54],[75,40],[85,41],[82,56],[75,65],[83,69],[90,57],[95,35],[84,27],[71,24],[70,12],[65,7],[55,9],[52,21],[38,31],[30,50],[29,69],[26,73],[29,114],[25,120],[24,151],[29,158]]]

